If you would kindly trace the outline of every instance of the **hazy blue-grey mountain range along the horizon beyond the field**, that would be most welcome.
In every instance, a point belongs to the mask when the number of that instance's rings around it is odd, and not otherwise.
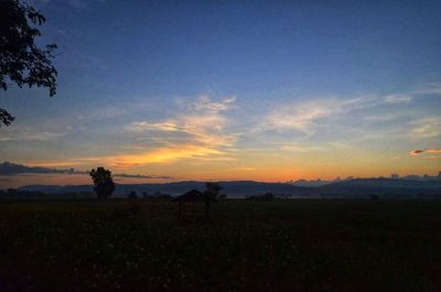
[[[441,195],[441,181],[411,181],[394,179],[355,179],[340,181],[320,186],[297,186],[290,183],[262,183],[254,181],[220,182],[220,193],[228,196],[250,196],[265,193],[273,193],[284,196],[363,196],[363,195]],[[115,195],[125,196],[131,191],[138,194],[170,194],[180,195],[190,190],[205,190],[203,182],[175,182],[163,184],[119,184]],[[26,185],[19,191],[36,191],[45,194],[86,193],[93,192],[93,185]]]

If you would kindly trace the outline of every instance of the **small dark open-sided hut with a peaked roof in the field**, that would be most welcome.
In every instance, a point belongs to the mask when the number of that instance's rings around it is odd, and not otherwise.
[[[174,199],[179,203],[179,217],[182,216],[208,216],[208,196],[197,190],[192,190]]]

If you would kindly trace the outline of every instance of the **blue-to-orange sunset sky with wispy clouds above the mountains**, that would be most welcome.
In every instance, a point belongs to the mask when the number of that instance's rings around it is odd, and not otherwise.
[[[120,183],[441,170],[440,1],[32,3],[57,94],[0,93],[0,162],[149,176]],[[43,183],[90,180],[0,177]]]

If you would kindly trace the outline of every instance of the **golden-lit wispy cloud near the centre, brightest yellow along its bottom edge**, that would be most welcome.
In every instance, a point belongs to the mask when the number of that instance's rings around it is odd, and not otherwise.
[[[212,100],[202,96],[193,102],[183,105],[175,117],[162,121],[136,121],[126,127],[137,136],[154,139],[162,137],[163,144],[150,151],[115,156],[119,163],[169,163],[180,159],[223,155],[225,148],[236,141],[234,134],[226,132],[228,119],[225,111],[233,108],[235,97]],[[176,138],[179,136],[179,138]],[[158,141],[158,140],[157,140]]]

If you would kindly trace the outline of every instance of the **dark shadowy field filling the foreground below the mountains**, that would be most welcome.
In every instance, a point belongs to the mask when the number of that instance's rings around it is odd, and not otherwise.
[[[441,201],[3,202],[0,291],[441,291]]]

